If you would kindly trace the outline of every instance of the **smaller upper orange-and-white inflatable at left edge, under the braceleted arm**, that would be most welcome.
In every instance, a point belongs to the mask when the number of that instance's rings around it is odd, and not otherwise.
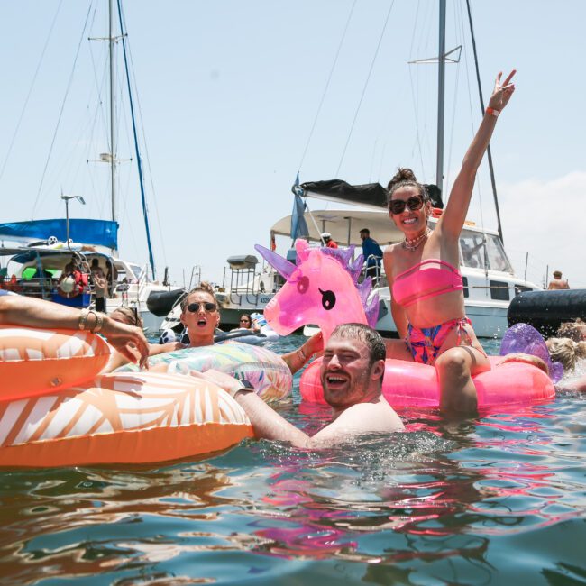
[[[0,400],[42,395],[93,379],[110,357],[87,331],[0,326]]]

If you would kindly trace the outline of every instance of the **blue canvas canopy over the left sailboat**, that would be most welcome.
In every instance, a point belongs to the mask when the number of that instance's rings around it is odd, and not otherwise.
[[[67,240],[67,225],[63,218],[54,220],[31,220],[0,224],[0,240]],[[94,244],[106,248],[118,248],[118,223],[111,220],[69,220],[69,238],[77,243]]]

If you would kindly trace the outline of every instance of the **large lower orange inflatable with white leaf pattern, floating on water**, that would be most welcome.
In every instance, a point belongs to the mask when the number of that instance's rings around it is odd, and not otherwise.
[[[105,374],[83,385],[0,403],[0,466],[169,462],[252,437],[248,417],[206,380]]]

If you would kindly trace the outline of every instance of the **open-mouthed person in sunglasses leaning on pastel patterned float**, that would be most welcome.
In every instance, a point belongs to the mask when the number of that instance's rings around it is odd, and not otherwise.
[[[215,329],[220,325],[220,311],[215,299],[214,288],[208,282],[202,281],[181,300],[180,319],[188,330],[188,345],[181,342],[159,344],[162,349],[161,353],[181,348],[211,346],[214,343]],[[314,354],[322,350],[322,346],[320,332],[308,338],[297,350],[281,354],[281,358],[287,363],[290,371],[295,374],[306,365]]]

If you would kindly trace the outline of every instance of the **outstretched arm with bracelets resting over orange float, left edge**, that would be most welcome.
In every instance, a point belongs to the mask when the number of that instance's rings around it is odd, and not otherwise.
[[[4,293],[4,295],[2,295]],[[115,321],[96,311],[63,306],[52,301],[6,295],[0,291],[0,324],[24,325],[45,329],[86,329],[99,332],[127,362],[145,366],[148,343],[142,329]]]

